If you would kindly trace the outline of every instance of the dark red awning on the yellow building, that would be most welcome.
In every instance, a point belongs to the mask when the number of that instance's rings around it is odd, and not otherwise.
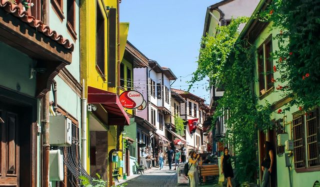
[[[88,104],[101,104],[110,125],[129,125],[130,119],[115,93],[88,86]]]

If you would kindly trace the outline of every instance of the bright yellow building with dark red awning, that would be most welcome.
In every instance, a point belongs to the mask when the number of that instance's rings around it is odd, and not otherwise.
[[[98,173],[108,186],[116,167],[112,156],[122,158],[121,132],[129,125],[118,99],[119,68],[128,31],[128,23],[119,23],[118,7],[117,0],[83,0],[80,4],[81,80],[88,106],[82,116],[86,127],[82,130],[82,145],[86,145],[82,159],[88,174],[95,177]]]

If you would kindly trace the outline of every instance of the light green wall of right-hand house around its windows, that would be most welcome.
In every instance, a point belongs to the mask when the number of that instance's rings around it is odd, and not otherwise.
[[[272,36],[275,36],[276,34],[279,33],[279,30],[273,29],[270,31],[270,24],[260,33],[258,38],[255,40],[254,45],[258,48],[265,39],[272,34]],[[272,51],[274,52],[275,50],[278,50],[277,46],[277,41],[272,40]],[[257,59],[257,58],[256,58]],[[276,61],[273,60],[273,65],[276,64]],[[254,72],[255,79],[258,80],[258,70],[257,70],[257,60],[255,63],[255,72]],[[279,72],[274,72],[273,74],[274,79],[279,78],[280,74]],[[278,85],[277,82],[274,83],[274,87]],[[283,83],[281,84],[283,85]],[[255,82],[254,85],[254,90],[255,90],[255,95],[258,96],[258,82]],[[270,104],[279,101],[282,99],[283,96],[281,96],[281,92],[276,91],[274,88],[271,93],[269,93],[267,96],[265,96],[262,99],[258,99],[258,103],[264,105],[266,101],[268,101]],[[285,125],[285,132],[288,133],[289,139],[292,139],[292,114],[298,111],[298,106],[293,106],[291,107],[290,111],[285,112],[284,114],[277,114],[276,111],[278,109],[284,109],[284,107],[280,107],[275,109],[272,114],[271,114],[271,119],[278,120],[278,119],[283,119],[284,118],[284,124]],[[306,128],[304,128],[305,134],[306,134]],[[305,145],[306,145],[306,140]],[[285,153],[289,153],[289,151],[285,151]],[[294,155],[294,154],[293,154]],[[294,156],[293,156],[294,157]],[[289,157],[290,161],[292,160],[291,164],[291,178],[292,178],[292,187],[312,187],[313,183],[315,181],[320,181],[320,171],[317,172],[305,172],[305,173],[296,173],[294,170],[294,158]],[[305,156],[307,158],[307,155]],[[261,163],[262,161],[259,161]],[[276,155],[276,172],[277,172],[277,184],[278,187],[289,187],[289,172],[288,168],[285,167],[285,157],[284,154],[282,155]]]

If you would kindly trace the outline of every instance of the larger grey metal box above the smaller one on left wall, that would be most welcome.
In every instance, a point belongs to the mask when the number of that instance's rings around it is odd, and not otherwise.
[[[66,116],[50,116],[50,146],[66,147],[71,145],[72,123]]]

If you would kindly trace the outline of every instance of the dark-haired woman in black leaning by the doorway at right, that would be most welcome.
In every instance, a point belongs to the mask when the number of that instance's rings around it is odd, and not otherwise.
[[[272,172],[273,166],[273,151],[270,142],[266,141],[264,143],[265,157],[261,163],[261,169],[263,171],[263,177],[261,182],[261,187],[267,187],[269,183],[269,177]]]

